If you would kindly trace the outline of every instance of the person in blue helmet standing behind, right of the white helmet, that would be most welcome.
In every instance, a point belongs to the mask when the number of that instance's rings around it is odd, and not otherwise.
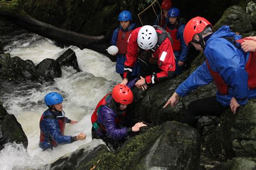
[[[173,39],[172,49],[176,58],[175,74],[180,75],[188,53],[188,47],[183,38],[185,24],[183,23],[183,18],[180,17],[178,8],[171,8],[167,16],[169,17],[169,22],[164,26],[164,29],[171,34]]]

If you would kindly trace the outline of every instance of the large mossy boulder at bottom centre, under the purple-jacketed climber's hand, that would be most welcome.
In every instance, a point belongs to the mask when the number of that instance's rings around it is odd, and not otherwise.
[[[78,169],[199,169],[199,157],[196,129],[165,122],[126,141],[119,152],[101,154]]]

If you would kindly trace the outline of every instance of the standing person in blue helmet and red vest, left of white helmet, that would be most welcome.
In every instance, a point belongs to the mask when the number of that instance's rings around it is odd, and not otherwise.
[[[130,11],[122,11],[118,16],[118,21],[120,22],[119,28],[114,30],[111,40],[111,45],[118,47],[116,72],[120,74],[123,78],[124,74],[124,62],[126,61],[127,54],[127,40],[130,37],[131,32],[136,29],[136,25],[132,22],[132,14]],[[136,78],[139,75],[140,67],[136,62],[132,78]]]

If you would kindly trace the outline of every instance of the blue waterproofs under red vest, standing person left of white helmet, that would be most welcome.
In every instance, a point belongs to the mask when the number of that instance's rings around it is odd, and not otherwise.
[[[134,23],[130,24],[129,28],[127,31],[134,30],[136,28],[136,25]],[[117,38],[118,38],[118,31],[119,29],[123,30],[123,27],[119,25],[119,28],[114,30],[113,35],[112,35],[112,40],[111,40],[111,45],[117,45]],[[117,54],[117,63],[116,63],[116,72],[119,74],[124,73],[124,62],[126,61],[126,56],[123,54]],[[138,63],[134,65],[134,69],[132,72],[132,75],[138,75],[140,72],[140,68]]]

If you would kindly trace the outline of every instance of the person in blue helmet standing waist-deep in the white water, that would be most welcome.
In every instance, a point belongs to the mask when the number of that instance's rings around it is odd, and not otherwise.
[[[40,141],[39,147],[43,151],[56,147],[58,144],[69,144],[76,140],[84,140],[86,134],[79,133],[78,136],[64,136],[65,124],[75,124],[65,117],[62,107],[63,98],[56,92],[48,93],[44,97],[45,105],[48,109],[44,111],[40,119]]]

